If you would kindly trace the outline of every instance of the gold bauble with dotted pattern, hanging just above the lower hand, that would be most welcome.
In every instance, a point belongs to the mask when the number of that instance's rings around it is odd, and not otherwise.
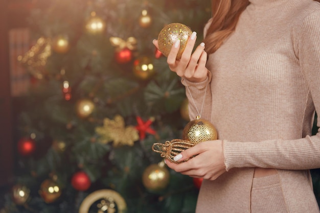
[[[182,132],[182,139],[189,140],[194,144],[207,140],[216,140],[217,130],[207,120],[200,119],[199,116],[193,121],[190,121]]]

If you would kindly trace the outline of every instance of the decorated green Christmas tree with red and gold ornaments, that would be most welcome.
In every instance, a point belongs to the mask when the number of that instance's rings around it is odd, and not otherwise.
[[[16,170],[1,212],[194,212],[201,179],[168,170],[154,143],[180,138],[185,87],[152,40],[172,22],[201,42],[207,1],[35,1],[36,42],[17,60]]]

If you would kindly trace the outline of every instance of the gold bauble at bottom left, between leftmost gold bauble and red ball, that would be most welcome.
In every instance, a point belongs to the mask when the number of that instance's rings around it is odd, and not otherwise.
[[[55,202],[61,193],[60,186],[52,179],[45,179],[40,185],[39,195],[46,203]]]

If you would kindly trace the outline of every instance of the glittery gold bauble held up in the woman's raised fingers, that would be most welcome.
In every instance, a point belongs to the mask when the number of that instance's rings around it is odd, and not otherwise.
[[[180,49],[176,58],[179,60],[186,48],[188,38],[191,34],[191,29],[186,25],[182,23],[170,23],[165,26],[158,35],[159,51],[161,51],[164,56],[168,57],[172,45],[174,45],[175,41],[179,39]]]

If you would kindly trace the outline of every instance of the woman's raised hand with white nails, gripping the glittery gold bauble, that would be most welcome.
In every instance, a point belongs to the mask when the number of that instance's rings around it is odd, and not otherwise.
[[[180,60],[176,60],[180,48],[180,40],[177,40],[174,45],[172,45],[167,63],[169,64],[169,68],[181,78],[192,82],[201,82],[204,81],[208,75],[208,69],[205,67],[207,63],[207,53],[204,52],[203,42],[200,43],[194,53],[192,53],[196,37],[196,32],[193,32],[188,39]],[[158,49],[158,41],[153,40],[153,44]]]

